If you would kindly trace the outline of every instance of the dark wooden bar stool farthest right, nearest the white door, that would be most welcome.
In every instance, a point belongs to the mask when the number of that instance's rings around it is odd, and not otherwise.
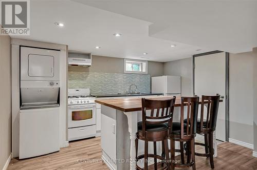
[[[211,168],[214,168],[213,131],[216,129],[220,97],[219,94],[216,96],[201,96],[201,103],[207,104],[207,115],[204,116],[205,105],[201,104],[201,116],[200,120],[197,121],[197,134],[205,136],[205,143],[195,142],[195,144],[205,146],[205,154],[195,153],[195,155],[210,158]]]

